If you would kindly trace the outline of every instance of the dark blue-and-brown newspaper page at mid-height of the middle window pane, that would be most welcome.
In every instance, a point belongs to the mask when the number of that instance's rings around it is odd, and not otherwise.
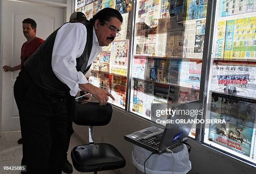
[[[146,80],[169,84],[170,59],[148,58],[146,62]]]

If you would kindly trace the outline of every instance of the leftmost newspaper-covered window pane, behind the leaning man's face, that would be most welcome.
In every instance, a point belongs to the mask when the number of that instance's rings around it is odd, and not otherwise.
[[[123,17],[120,35],[117,34],[113,43],[104,46],[102,52],[91,65],[92,76],[89,82],[97,87],[108,90],[115,98],[108,102],[125,109],[128,52],[131,21],[131,0],[78,0],[77,11],[83,12],[90,20],[102,8],[115,8]],[[130,14],[130,16],[129,16]],[[128,27],[129,26],[129,27]]]

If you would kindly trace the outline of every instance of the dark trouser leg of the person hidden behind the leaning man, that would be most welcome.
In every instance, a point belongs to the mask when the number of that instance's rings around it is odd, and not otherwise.
[[[74,133],[72,123],[73,123],[73,113],[74,113],[74,102],[75,97],[68,94],[67,96],[67,146],[64,153],[64,159],[67,159],[67,151],[69,150],[70,137]]]

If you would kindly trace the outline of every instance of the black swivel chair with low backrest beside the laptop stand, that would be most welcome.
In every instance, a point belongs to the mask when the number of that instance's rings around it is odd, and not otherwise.
[[[93,143],[93,126],[107,125],[112,116],[112,106],[100,106],[98,102],[84,105],[75,102],[73,121],[77,125],[89,126],[89,144],[76,146],[71,151],[73,166],[80,172],[120,169],[125,159],[120,152],[107,143]]]

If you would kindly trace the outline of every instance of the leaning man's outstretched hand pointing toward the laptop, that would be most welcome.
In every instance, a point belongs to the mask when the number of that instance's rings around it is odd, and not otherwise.
[[[83,91],[90,92],[92,96],[100,102],[100,106],[105,106],[107,104],[108,97],[115,100],[115,98],[108,91],[95,87],[90,83],[79,84],[79,88]]]

